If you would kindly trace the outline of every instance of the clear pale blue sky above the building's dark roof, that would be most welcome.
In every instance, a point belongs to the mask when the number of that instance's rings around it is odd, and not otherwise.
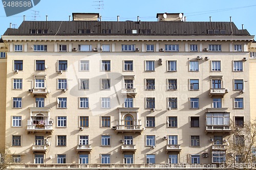
[[[209,21],[209,16],[212,21],[229,21],[232,16],[232,21],[239,29],[242,29],[243,24],[251,35],[256,35],[255,0],[41,0],[30,10],[9,17],[6,17],[4,7],[0,5],[0,35],[9,28],[10,22],[17,28],[23,21],[23,15],[26,15],[26,20],[34,20],[35,12],[32,10],[39,11],[36,12],[36,20],[45,20],[48,15],[48,20],[63,21],[69,20],[72,12],[100,13],[103,21],[115,21],[117,15],[120,21],[135,21],[137,16],[140,16],[141,21],[156,21],[156,14],[164,12],[184,13],[187,21]]]

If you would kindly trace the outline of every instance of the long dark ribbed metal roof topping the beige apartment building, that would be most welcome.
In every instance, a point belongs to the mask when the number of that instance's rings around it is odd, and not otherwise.
[[[48,29],[47,34],[30,34],[31,29]],[[79,29],[91,29],[90,34],[111,35],[250,35],[233,22],[172,22],[172,21],[23,21],[18,29],[7,29],[4,35],[81,35]],[[150,29],[151,33],[127,34],[127,29]],[[225,30],[225,34],[208,34],[208,30]]]

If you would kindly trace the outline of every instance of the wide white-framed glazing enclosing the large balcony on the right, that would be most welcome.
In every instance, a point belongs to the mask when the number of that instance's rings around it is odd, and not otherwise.
[[[229,126],[229,113],[206,113],[206,126]]]

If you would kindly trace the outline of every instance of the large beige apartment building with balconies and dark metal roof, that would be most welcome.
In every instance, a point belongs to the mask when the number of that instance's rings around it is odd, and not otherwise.
[[[250,120],[233,22],[23,21],[8,45],[6,143],[19,168],[214,164]],[[168,18],[172,18],[168,20]]]

